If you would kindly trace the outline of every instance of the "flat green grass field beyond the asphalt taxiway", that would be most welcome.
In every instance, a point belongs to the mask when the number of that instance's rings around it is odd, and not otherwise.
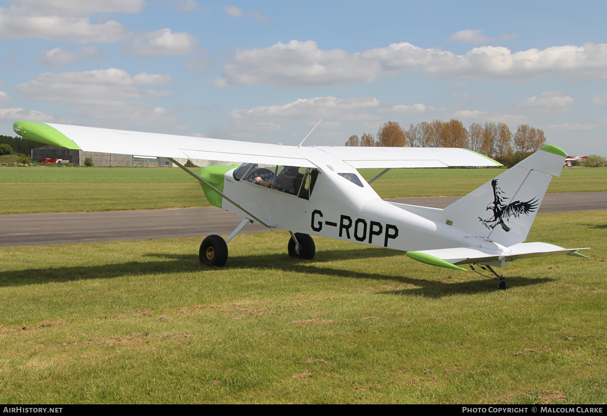
[[[379,169],[362,170],[373,178]],[[393,169],[373,183],[382,198],[466,195],[503,169]],[[0,214],[208,206],[179,168],[0,167]],[[548,192],[607,191],[606,168],[563,170]]]

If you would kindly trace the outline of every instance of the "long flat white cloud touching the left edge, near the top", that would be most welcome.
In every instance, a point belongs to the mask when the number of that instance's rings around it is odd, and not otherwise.
[[[104,43],[123,41],[127,35],[126,27],[115,20],[91,23],[89,18],[38,15],[25,8],[0,7],[0,39],[22,38]]]

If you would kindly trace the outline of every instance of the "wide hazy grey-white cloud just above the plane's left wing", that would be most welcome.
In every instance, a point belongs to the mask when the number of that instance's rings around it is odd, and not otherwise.
[[[176,118],[163,107],[144,100],[174,95],[169,91],[141,87],[168,84],[168,75],[139,73],[110,68],[85,72],[44,73],[15,87],[18,92],[40,101],[57,101],[72,106],[72,112],[90,118],[130,124],[161,124]]]

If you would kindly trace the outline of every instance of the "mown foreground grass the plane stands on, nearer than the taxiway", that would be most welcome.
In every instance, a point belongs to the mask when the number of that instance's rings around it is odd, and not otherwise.
[[[243,234],[0,249],[2,403],[605,403],[607,211],[537,216],[586,247],[472,272]]]

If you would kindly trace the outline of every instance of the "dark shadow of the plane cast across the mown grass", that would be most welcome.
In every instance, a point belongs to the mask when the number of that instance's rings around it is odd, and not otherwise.
[[[404,253],[394,250],[382,249],[351,249],[351,250],[324,250],[317,253],[313,261],[305,261],[288,257],[286,253],[274,253],[265,255],[235,255],[230,257],[226,266],[217,270],[240,270],[252,267],[263,267],[263,269],[282,270],[285,273],[308,273],[313,275],[326,275],[331,277],[371,279],[378,281],[394,281],[401,284],[410,284],[415,287],[402,290],[387,290],[382,294],[392,295],[421,295],[425,297],[444,297],[460,293],[481,293],[496,290],[495,285],[487,280],[473,280],[459,283],[443,283],[445,272],[429,272],[429,279],[407,277],[408,259],[402,262],[395,273],[368,273],[347,269],[347,264],[335,267],[324,267],[323,265],[333,261],[347,260],[370,260],[385,257],[404,257]],[[158,275],[171,273],[196,273],[202,268],[197,255],[174,254],[174,253],[148,253],[145,258],[158,258],[157,261],[129,261],[127,263],[105,264],[102,266],[75,266],[75,267],[49,267],[46,269],[25,269],[0,272],[0,287],[25,286],[29,284],[65,283],[86,279],[112,279],[127,275]],[[211,269],[212,270],[212,269]],[[448,272],[457,278],[458,271]],[[436,277],[440,274],[441,277]],[[205,277],[200,277],[203,282]],[[515,286],[529,286],[552,281],[548,277],[526,278],[517,277]]]

